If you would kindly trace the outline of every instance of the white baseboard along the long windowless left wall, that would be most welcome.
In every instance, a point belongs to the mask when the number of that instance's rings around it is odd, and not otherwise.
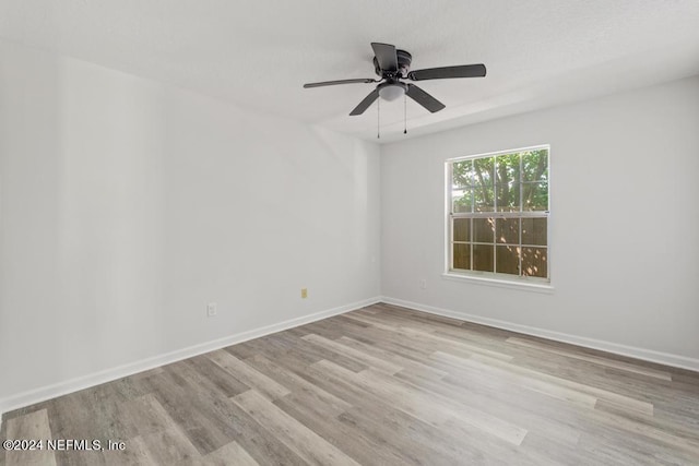
[[[225,348],[226,346],[247,342],[253,338],[259,338],[261,336],[269,335],[271,333],[281,332],[284,330],[293,328],[295,326],[319,321],[321,319],[327,319],[333,315],[354,311],[356,309],[375,304],[380,301],[381,299],[379,297],[365,299],[363,301],[353,302],[351,304],[341,306],[337,308],[329,309],[321,312],[316,312],[316,313],[304,315],[296,319],[291,319],[288,321],[280,322],[272,325],[266,325],[260,328],[241,332],[235,335],[226,336],[224,338],[214,339],[212,342],[202,343],[199,345],[190,346],[188,348],[178,349],[175,351],[166,353],[164,355],[154,356],[151,358],[142,359],[140,361],[130,362],[128,365],[106,369],[92,374],[58,382],[52,385],[42,386],[38,389],[22,392],[5,398],[1,398],[0,399],[0,426],[2,426],[3,413],[8,413],[24,406],[29,406],[35,403],[40,403],[46,399],[51,399],[57,396],[76,392],[79,390],[84,390],[91,386],[99,385],[100,383],[106,383],[112,380],[121,379],[123,377],[133,375],[134,373],[143,372],[149,369],[154,369],[161,366],[169,365],[171,362],[180,361],[182,359],[191,358],[193,356],[198,356],[204,353]]]

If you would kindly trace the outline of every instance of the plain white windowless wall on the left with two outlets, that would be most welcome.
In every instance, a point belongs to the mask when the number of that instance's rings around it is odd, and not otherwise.
[[[371,143],[0,43],[0,402],[374,298],[379,227]]]

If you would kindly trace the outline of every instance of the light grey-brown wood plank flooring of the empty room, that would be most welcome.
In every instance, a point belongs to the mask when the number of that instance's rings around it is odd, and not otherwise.
[[[699,465],[699,373],[375,304],[3,417],[11,465]]]

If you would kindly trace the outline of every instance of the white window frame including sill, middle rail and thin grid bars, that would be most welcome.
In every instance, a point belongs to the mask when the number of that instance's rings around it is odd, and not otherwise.
[[[493,157],[494,158],[494,170],[496,169],[496,164],[495,162],[497,160],[496,157],[501,156],[501,155],[508,155],[508,154],[517,154],[517,153],[522,153],[522,152],[529,152],[529,151],[542,151],[545,150],[546,151],[546,155],[547,155],[547,159],[546,159],[546,169],[547,169],[547,208],[545,211],[522,211],[520,210],[519,212],[497,212],[498,205],[497,205],[497,193],[495,194],[494,201],[493,201],[493,212],[475,212],[475,207],[473,207],[473,201],[472,201],[472,212],[466,212],[466,213],[453,213],[453,164],[458,163],[458,162],[462,162],[462,160],[474,160],[474,159],[479,159],[479,158],[488,158],[488,157]],[[521,162],[521,157],[520,157],[520,164]],[[520,165],[521,167],[521,165]],[[510,150],[503,150],[503,151],[496,151],[496,152],[488,152],[488,153],[482,153],[482,154],[473,154],[473,155],[466,155],[466,156],[460,156],[460,157],[453,157],[453,158],[448,158],[447,160],[445,160],[445,191],[446,191],[446,202],[445,202],[445,273],[442,274],[442,276],[445,278],[452,278],[452,279],[466,279],[466,280],[476,280],[478,283],[484,283],[487,285],[496,285],[496,286],[506,286],[506,287],[520,287],[520,286],[525,286],[525,287],[530,287],[530,288],[535,288],[535,289],[542,289],[542,290],[548,290],[548,289],[553,289],[552,286],[552,236],[550,236],[550,230],[552,230],[552,215],[550,215],[550,145],[549,144],[541,144],[541,145],[534,145],[534,146],[528,146],[528,147],[519,147],[519,148],[510,148]],[[517,183],[520,187],[520,208],[522,208],[522,199],[521,199],[521,193],[522,193],[522,186],[523,186],[523,180],[522,180],[522,175],[523,175],[523,170],[520,168],[520,179],[517,180]],[[497,183],[494,180],[494,188],[497,186]],[[514,275],[514,274],[506,274],[506,273],[497,273],[495,272],[495,265],[497,263],[497,247],[498,247],[498,242],[497,239],[494,238],[494,242],[493,244],[493,249],[494,249],[494,256],[493,256],[493,261],[494,261],[494,272],[489,272],[489,271],[474,271],[473,270],[473,253],[470,254],[471,256],[471,268],[470,271],[466,270],[460,270],[460,268],[453,268],[453,246],[454,246],[454,241],[453,241],[453,225],[454,225],[454,219],[455,218],[470,218],[471,223],[470,223],[470,230],[471,230],[471,238],[469,238],[469,241],[465,241],[465,243],[471,244],[472,248],[472,252],[473,252],[473,246],[475,243],[474,238],[473,238],[473,218],[493,218],[493,219],[498,219],[498,218],[546,218],[546,277],[535,277],[535,276],[526,276],[526,275]],[[520,220],[521,222],[521,220]],[[495,235],[495,232],[494,232]],[[522,244],[522,228],[521,228],[521,223],[520,223],[520,228],[519,228],[519,242],[518,242],[518,248],[526,248],[526,247],[536,247],[536,246],[529,246],[529,244]],[[457,243],[460,243],[459,241],[457,241]],[[464,243],[464,242],[462,242]],[[490,243],[488,243],[490,244]],[[542,247],[541,244],[538,247]],[[521,271],[521,264],[522,264],[522,258],[520,254],[519,258],[519,270]]]

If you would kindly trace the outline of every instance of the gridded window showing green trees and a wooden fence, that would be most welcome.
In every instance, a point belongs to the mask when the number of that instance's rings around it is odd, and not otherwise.
[[[450,273],[549,282],[548,152],[447,160]]]

